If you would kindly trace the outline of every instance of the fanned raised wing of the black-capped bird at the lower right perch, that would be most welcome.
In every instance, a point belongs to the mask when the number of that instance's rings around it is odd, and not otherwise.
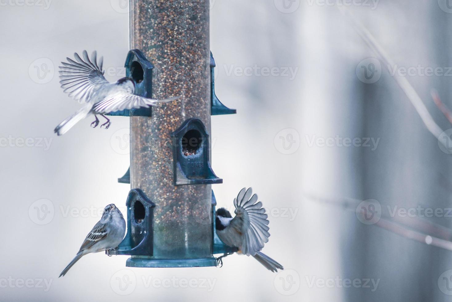
[[[257,195],[252,189],[243,188],[234,199],[235,217],[231,226],[242,234],[241,252],[245,255],[255,255],[268,242],[268,220],[262,203],[257,202]]]

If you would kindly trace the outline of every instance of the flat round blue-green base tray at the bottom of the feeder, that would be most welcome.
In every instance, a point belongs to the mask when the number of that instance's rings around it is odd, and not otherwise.
[[[195,259],[155,259],[147,257],[133,257],[127,259],[126,266],[145,268],[207,267],[217,266],[217,259],[215,259],[214,257]]]

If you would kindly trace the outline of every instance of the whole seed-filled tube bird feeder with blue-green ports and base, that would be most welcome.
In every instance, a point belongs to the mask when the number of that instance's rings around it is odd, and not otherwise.
[[[117,255],[129,267],[216,266],[214,253],[231,251],[214,227],[211,115],[235,113],[214,92],[209,0],[130,0],[127,76],[135,94],[165,99],[130,116],[131,184],[127,234]]]

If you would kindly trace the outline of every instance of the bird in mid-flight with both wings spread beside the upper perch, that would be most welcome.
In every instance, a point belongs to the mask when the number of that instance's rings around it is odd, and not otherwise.
[[[133,94],[135,82],[131,78],[124,77],[115,83],[110,83],[104,78],[105,71],[102,69],[104,59],[100,57],[98,62],[97,52],[94,51],[92,53],[91,60],[86,50],[83,51],[82,56],[83,59],[78,53],[75,53],[76,61],[66,58],[68,63],[61,62],[63,64],[63,66],[60,66],[59,71],[61,88],[70,97],[85,105],[56,126],[54,131],[58,135],[66,133],[89,114],[94,114],[96,118],[91,123],[91,127],[95,128],[99,125],[97,114],[100,114],[107,120],[100,127],[104,126],[105,129],[108,129],[111,122],[104,114],[124,109],[149,108],[157,103],[166,103],[179,99],[179,97],[173,97],[156,100],[135,95]]]

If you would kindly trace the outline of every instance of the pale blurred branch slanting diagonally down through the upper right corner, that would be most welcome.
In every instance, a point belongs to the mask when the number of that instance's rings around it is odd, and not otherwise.
[[[383,61],[384,65],[386,65],[386,68],[388,68],[389,70],[390,66],[395,66],[394,62],[391,60],[391,57],[388,56],[386,51],[381,47],[381,45],[367,30],[367,28],[361,22],[359,22],[350,12],[346,11],[346,9],[340,6],[337,7],[341,11],[341,13],[348,15],[348,17],[353,22],[353,28],[357,31],[357,33],[364,40],[367,46],[380,57],[381,61]],[[414,90],[410,82],[406,79],[406,77],[400,76],[397,73],[395,73],[392,77],[403,90],[403,92],[405,92],[406,96],[414,106],[414,109],[416,109],[419,117],[422,119],[422,122],[424,123],[425,127],[427,127],[428,131],[438,139],[438,142],[441,142],[447,148],[446,141],[439,139],[439,136],[443,132],[443,130],[438,126],[437,123],[435,123],[430,113],[428,113],[427,107],[425,107],[424,102],[419,97],[419,94],[416,92],[416,90]]]

